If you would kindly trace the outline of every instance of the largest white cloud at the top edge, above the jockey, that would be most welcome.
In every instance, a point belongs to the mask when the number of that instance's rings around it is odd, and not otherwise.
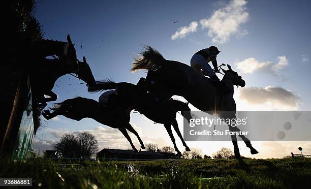
[[[238,37],[246,35],[247,30],[240,31],[239,27],[248,20],[246,1],[232,0],[224,8],[216,10],[208,19],[201,19],[202,29],[208,28],[207,35],[214,43],[225,43],[233,34]]]

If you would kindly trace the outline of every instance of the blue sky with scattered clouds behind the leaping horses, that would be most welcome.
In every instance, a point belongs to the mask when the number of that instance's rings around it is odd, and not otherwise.
[[[85,56],[96,80],[137,83],[146,72],[131,73],[133,57],[143,45],[150,45],[166,59],[190,65],[192,55],[211,45],[221,53],[219,63],[230,64],[246,81],[235,87],[237,110],[310,110],[311,99],[311,13],[310,1],[42,1],[35,16],[44,38],[66,41],[70,34],[78,59]],[[221,77],[221,75],[219,75]],[[56,102],[77,96],[98,100],[100,93],[88,93],[81,81],[66,75],[53,91]],[[181,97],[175,97],[185,101]],[[48,103],[51,107],[52,103]],[[195,110],[191,106],[192,110]],[[182,118],[177,114],[182,132]],[[100,150],[130,148],[116,129],[85,118],[74,121],[57,116],[43,121],[35,138],[35,150],[52,149],[64,133],[94,134]],[[131,124],[144,143],[159,147],[173,145],[163,125],[154,124],[139,113]],[[173,132],[174,133],[174,132]],[[130,135],[137,148],[134,135]],[[184,150],[174,133],[177,146]],[[186,142],[212,155],[231,142]],[[311,142],[253,142],[260,152],[251,155],[239,143],[241,154],[255,158],[283,157],[290,152],[311,154]]]

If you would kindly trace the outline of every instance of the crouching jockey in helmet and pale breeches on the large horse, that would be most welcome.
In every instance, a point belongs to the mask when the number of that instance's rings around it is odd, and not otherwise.
[[[207,49],[202,49],[196,52],[190,61],[191,67],[197,72],[210,77],[214,81],[219,81],[219,78],[216,76],[216,72],[219,72],[217,68],[216,57],[220,53],[217,47],[210,46]],[[211,61],[214,67],[214,71],[209,66],[208,62]]]

